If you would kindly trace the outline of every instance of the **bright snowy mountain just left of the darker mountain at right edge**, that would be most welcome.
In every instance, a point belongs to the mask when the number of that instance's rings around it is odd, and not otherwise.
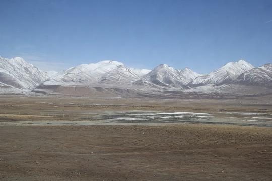
[[[251,70],[252,68],[254,67],[244,60],[239,60],[238,62],[229,62],[207,75],[198,76],[189,84],[187,84],[186,87],[194,88],[203,85],[223,85],[236,79],[242,73]]]

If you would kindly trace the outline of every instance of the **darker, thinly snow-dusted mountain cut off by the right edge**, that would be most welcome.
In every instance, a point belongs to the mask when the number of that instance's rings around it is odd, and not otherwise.
[[[272,64],[267,63],[242,73],[230,84],[257,85],[272,87]]]

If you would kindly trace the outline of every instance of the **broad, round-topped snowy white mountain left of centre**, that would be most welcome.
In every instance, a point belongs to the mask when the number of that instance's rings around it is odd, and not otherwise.
[[[140,77],[150,71],[127,68],[123,63],[117,61],[101,61],[81,64],[59,72],[56,76],[45,81],[43,85],[128,85],[133,81],[140,80]]]

